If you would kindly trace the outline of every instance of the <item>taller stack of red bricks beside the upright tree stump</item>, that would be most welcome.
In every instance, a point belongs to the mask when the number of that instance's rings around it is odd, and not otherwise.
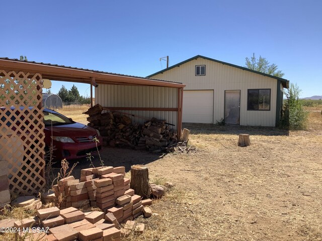
[[[124,176],[125,167],[82,169],[80,180],[70,176],[54,186],[56,202],[63,200],[60,208],[97,206],[104,213],[112,213],[119,223],[132,220],[142,215],[144,204]],[[151,204],[150,199],[144,202]]]

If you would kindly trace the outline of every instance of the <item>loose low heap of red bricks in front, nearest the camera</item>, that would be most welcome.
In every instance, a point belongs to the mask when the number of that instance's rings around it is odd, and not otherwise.
[[[116,228],[116,224],[109,221],[104,212],[84,213],[73,207],[40,209],[37,216],[16,221],[14,225],[23,230],[16,233],[16,238],[25,241],[121,240],[120,227]],[[29,232],[27,227],[30,227]],[[46,232],[47,228],[49,232]]]

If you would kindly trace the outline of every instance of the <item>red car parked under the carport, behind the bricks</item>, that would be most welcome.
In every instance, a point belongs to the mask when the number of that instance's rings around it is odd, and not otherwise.
[[[43,113],[46,149],[52,143],[56,149],[53,151],[54,159],[82,158],[102,149],[103,138],[98,130],[74,122],[51,109],[44,108]]]

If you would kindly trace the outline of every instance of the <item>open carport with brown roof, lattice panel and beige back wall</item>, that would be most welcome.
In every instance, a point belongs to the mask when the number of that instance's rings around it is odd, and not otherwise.
[[[0,159],[8,161],[11,192],[36,193],[45,185],[43,79],[91,84],[96,87],[95,103],[140,117],[167,119],[181,135],[185,84],[0,58],[0,106],[4,106]],[[17,111],[21,106],[23,110]]]

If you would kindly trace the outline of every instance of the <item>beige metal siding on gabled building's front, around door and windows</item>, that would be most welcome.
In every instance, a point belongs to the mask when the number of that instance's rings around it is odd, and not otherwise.
[[[196,65],[206,65],[205,76],[195,76]],[[277,80],[274,78],[203,58],[192,60],[152,78],[182,82],[187,85],[185,90],[213,89],[214,123],[224,117],[225,90],[240,90],[240,125],[275,126]],[[271,109],[247,110],[247,90],[260,88],[271,89]]]

